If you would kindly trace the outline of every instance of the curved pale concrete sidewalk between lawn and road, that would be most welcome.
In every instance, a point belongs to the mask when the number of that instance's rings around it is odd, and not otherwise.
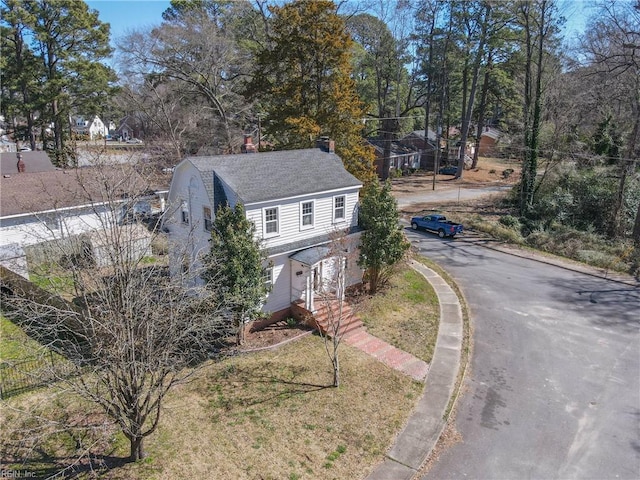
[[[422,398],[387,458],[367,477],[369,480],[409,480],[418,472],[444,429],[444,417],[460,370],[463,321],[458,296],[430,268],[414,261],[411,266],[424,275],[438,295],[440,324],[436,349]]]

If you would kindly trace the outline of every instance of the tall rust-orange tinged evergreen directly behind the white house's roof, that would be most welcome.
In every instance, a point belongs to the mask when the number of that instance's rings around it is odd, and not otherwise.
[[[363,106],[351,77],[352,40],[329,0],[272,6],[269,47],[257,58],[248,93],[267,112],[265,132],[282,148],[336,142],[349,172],[375,178],[373,151],[362,140]]]

